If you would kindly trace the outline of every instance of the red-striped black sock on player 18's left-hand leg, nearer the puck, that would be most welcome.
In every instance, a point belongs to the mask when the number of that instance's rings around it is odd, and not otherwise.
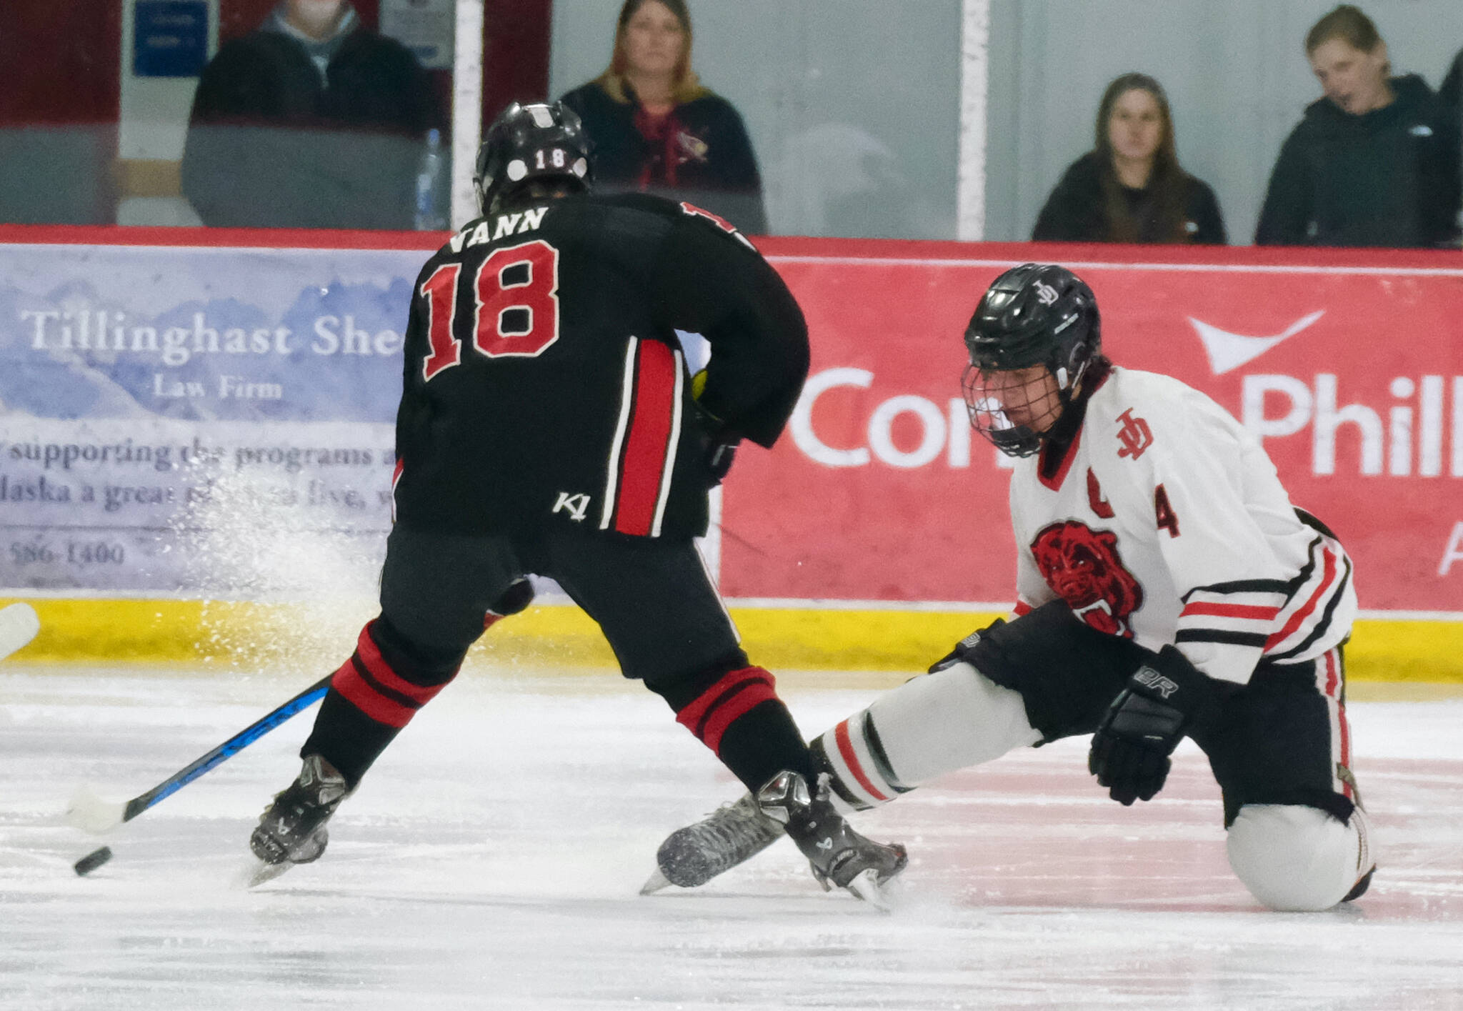
[[[323,756],[354,790],[372,762],[461,666],[462,654],[432,655],[377,617],[361,629],[356,653],[331,677],[331,691],[300,753]]]

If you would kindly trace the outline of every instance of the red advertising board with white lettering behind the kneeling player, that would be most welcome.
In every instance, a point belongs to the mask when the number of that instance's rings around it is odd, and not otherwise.
[[[961,335],[986,285],[1065,262],[1118,363],[1263,436],[1356,562],[1362,607],[1463,612],[1463,263],[1440,253],[767,240],[813,337],[789,436],[726,489],[732,597],[986,601],[1015,581],[1001,456]],[[1162,258],[1162,259],[1160,259]]]

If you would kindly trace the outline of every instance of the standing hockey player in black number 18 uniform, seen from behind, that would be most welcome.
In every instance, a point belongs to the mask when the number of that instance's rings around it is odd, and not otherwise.
[[[250,837],[256,881],[320,856],[336,806],[484,628],[530,604],[537,574],[756,793],[825,887],[879,901],[903,847],[857,835],[818,789],[692,541],[736,443],[771,446],[791,414],[802,312],[726,221],[595,196],[590,158],[572,110],[509,107],[478,154],[483,217],[421,269],[382,613],[334,674],[300,777]],[[676,329],[711,347],[695,395]]]

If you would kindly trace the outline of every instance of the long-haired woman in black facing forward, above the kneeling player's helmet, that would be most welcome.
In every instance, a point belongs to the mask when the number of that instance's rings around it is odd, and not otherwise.
[[[1107,85],[1096,135],[1046,199],[1033,240],[1225,244],[1214,190],[1179,167],[1157,80],[1125,73]]]

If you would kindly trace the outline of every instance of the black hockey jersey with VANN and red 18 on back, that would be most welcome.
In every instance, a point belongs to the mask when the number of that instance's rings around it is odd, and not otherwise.
[[[677,329],[711,347],[699,401]],[[699,535],[710,439],[771,446],[806,375],[797,303],[726,221],[645,195],[503,206],[417,278],[396,521]]]

